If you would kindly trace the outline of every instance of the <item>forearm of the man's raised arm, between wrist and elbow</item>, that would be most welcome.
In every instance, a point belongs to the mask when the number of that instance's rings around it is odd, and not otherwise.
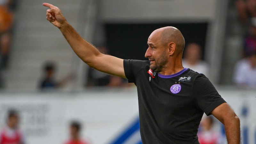
[[[68,22],[63,23],[60,27],[60,31],[76,55],[85,63],[90,65],[95,57],[100,54],[100,52],[92,44],[85,41]]]

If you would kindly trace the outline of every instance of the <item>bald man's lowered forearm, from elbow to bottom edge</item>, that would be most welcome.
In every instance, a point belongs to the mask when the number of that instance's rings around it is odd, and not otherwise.
[[[228,144],[240,144],[240,120],[234,116],[228,121],[224,121],[225,132]]]

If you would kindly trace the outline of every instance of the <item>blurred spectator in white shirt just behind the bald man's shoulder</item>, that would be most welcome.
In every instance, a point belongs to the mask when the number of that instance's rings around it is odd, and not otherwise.
[[[202,73],[205,76],[209,76],[208,64],[201,60],[202,49],[199,44],[190,43],[184,49],[184,58],[182,59],[182,65],[184,68],[190,68],[198,73]]]

